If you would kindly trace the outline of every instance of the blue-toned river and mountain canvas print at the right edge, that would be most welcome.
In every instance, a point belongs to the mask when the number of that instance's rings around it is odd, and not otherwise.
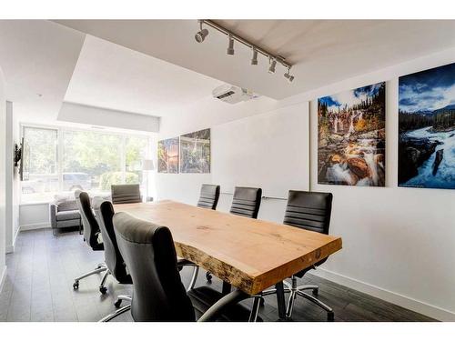
[[[455,63],[399,77],[399,186],[455,188]]]

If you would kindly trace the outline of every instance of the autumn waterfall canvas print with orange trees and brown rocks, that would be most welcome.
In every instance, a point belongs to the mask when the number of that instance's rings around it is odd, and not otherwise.
[[[318,183],[385,186],[385,82],[318,99]]]

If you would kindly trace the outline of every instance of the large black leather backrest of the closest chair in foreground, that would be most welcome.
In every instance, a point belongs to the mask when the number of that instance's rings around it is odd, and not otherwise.
[[[116,213],[113,221],[120,252],[133,278],[133,319],[195,321],[194,308],[178,273],[169,229],[125,212]]]

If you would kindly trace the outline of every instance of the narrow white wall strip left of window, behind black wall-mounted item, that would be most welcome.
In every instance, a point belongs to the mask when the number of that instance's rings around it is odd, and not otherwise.
[[[5,206],[5,247],[6,253],[15,251],[15,237],[19,229],[19,190],[20,181],[18,167],[14,163],[15,143],[20,145],[19,124],[13,111],[13,103],[6,102],[6,206]]]

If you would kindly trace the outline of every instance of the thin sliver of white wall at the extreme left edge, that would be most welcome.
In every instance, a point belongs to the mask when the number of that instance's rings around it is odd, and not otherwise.
[[[0,290],[5,278],[5,78],[0,67]]]

